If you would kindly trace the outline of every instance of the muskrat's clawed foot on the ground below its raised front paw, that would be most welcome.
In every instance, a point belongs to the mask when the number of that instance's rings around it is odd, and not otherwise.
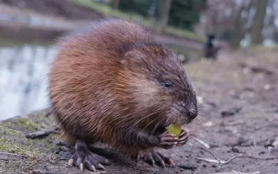
[[[174,167],[174,161],[171,158],[166,157],[165,155],[162,155],[155,150],[149,153],[140,152],[138,153],[137,159],[143,159],[144,162],[152,164],[152,166],[154,166],[154,164],[158,164],[165,167],[165,164],[170,164],[170,166]]]

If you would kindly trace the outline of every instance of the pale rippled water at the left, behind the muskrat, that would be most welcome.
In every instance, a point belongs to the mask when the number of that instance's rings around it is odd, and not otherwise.
[[[0,120],[48,106],[47,71],[54,53],[51,46],[0,47]]]

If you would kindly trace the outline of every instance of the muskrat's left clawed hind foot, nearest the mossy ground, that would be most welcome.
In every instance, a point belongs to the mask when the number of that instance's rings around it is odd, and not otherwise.
[[[96,172],[97,169],[105,170],[102,164],[108,165],[110,162],[105,157],[92,153],[85,142],[76,142],[74,156],[69,160],[70,166],[79,166],[81,171],[87,168],[90,171]]]

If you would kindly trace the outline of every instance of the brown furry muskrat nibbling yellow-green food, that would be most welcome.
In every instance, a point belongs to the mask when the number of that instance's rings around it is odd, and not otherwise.
[[[165,127],[190,123],[198,114],[178,56],[147,28],[124,19],[102,19],[58,42],[49,98],[61,130],[76,143],[69,164],[81,171],[83,165],[96,171],[108,162],[89,150],[95,142],[174,166],[154,149],[186,143],[186,130],[176,136]]]

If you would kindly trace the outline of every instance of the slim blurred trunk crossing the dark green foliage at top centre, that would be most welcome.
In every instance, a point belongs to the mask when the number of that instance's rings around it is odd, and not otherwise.
[[[170,13],[170,8],[171,8],[171,3],[172,0],[165,0],[164,2],[164,9],[161,10],[161,21],[160,24],[158,26],[158,33],[165,33],[165,28],[168,25],[168,21],[169,21],[169,13]],[[161,2],[161,3],[163,3]],[[162,8],[162,4],[161,4],[161,8]]]

